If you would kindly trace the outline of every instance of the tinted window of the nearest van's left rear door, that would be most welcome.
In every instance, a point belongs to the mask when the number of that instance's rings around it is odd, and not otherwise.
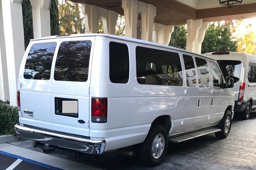
[[[49,80],[56,42],[35,43],[29,50],[24,79]]]

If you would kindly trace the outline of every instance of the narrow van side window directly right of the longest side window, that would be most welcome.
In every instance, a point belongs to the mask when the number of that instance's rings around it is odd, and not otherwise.
[[[186,69],[186,82],[188,87],[196,87],[196,69],[192,56],[184,55],[183,60]]]

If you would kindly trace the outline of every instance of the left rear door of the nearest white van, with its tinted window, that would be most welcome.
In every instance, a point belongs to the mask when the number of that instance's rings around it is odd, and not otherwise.
[[[21,64],[18,79],[21,115],[19,122],[41,128],[52,128],[51,68],[56,40],[32,41]]]

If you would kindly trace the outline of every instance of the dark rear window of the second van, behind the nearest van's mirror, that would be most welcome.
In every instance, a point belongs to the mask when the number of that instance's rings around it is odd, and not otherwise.
[[[225,78],[233,78],[234,83],[238,82],[241,75],[241,61],[237,60],[217,60],[222,74]]]

